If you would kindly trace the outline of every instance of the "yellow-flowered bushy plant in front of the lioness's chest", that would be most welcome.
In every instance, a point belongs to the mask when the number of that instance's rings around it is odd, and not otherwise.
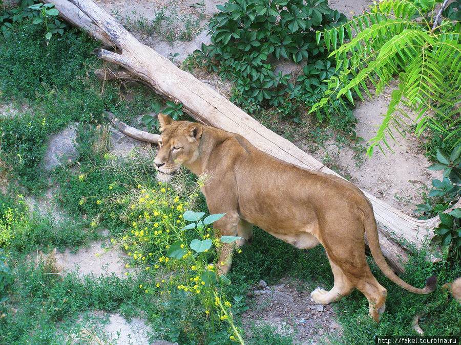
[[[142,269],[139,289],[162,298],[154,311],[162,320],[161,334],[181,342],[211,343],[215,333],[225,341],[241,341],[235,310],[222,288],[231,282],[218,274],[221,263],[216,262],[220,248],[234,246],[239,237],[213,239],[211,224],[223,215],[187,211],[196,204],[197,185],[184,187],[182,176],[177,184],[162,185],[152,179],[153,169],[152,157],[145,154],[133,154],[124,163],[108,157],[106,170],[120,178],[109,193],[82,204],[97,203],[101,215],[118,215],[124,223],[112,243],[127,251],[127,267]]]

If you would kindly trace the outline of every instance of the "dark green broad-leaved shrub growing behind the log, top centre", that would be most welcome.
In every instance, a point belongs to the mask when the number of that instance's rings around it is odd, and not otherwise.
[[[195,59],[234,83],[231,101],[250,112],[281,107],[283,116],[291,116],[304,99],[326,87],[322,80],[335,68],[315,31],[346,20],[326,0],[231,0],[217,7],[220,12],[209,24],[212,44],[202,45]],[[283,58],[306,64],[296,86],[290,75],[275,73],[272,62]]]

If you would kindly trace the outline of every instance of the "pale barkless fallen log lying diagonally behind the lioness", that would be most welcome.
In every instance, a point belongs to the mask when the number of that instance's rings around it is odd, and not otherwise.
[[[122,66],[127,70],[128,76],[135,76],[164,97],[177,103],[181,102],[183,109],[199,122],[241,134],[259,149],[288,163],[339,176],[294,144],[249,117],[215,90],[140,43],[92,0],[59,0],[57,3],[53,0],[52,2],[62,17],[73,17],[73,24],[90,30],[90,35],[95,36],[95,29],[94,27],[88,29],[89,20],[98,32],[103,33],[103,37],[109,37],[110,44],[117,52],[100,49],[99,58]],[[64,3],[66,6],[61,5]],[[126,76],[123,74],[123,77]],[[120,77],[123,78],[121,75]],[[373,204],[383,254],[394,269],[402,271],[400,261],[407,257],[407,253],[394,241],[403,240],[417,248],[422,247],[424,242],[433,236],[431,231],[439,223],[439,217],[428,220],[414,219],[366,191],[364,193]],[[411,250],[411,246],[405,244],[403,246]]]

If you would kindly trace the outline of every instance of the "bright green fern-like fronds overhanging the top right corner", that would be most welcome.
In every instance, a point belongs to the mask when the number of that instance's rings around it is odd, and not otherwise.
[[[387,146],[386,135],[393,137],[391,129],[401,133],[408,124],[415,124],[418,135],[426,128],[443,133],[450,148],[461,140],[457,106],[461,91],[461,5],[451,3],[440,13],[442,19],[437,17],[437,3],[385,0],[370,13],[317,32],[317,40],[324,39],[326,48],[332,50],[329,56],[337,63],[337,74],[329,77],[324,97],[311,111],[334,106],[343,96],[353,103],[352,93],[362,100],[365,94],[380,94],[398,76],[399,88],[392,91],[383,123],[370,141],[370,156],[375,146],[382,149],[380,143]],[[439,21],[434,22],[436,18]],[[357,37],[347,42],[352,32]],[[414,112],[414,119],[406,108]]]

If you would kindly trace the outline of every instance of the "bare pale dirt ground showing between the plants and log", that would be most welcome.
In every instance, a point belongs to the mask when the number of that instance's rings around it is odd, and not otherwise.
[[[198,49],[202,42],[209,42],[209,36],[206,36],[207,19],[217,11],[216,5],[223,4],[224,1],[98,0],[97,3],[125,24],[141,42],[179,63],[186,58],[187,54]],[[361,14],[369,5],[372,5],[371,0],[330,0],[329,3],[331,7],[345,13],[348,17]],[[164,21],[162,24],[163,32],[187,31],[192,34],[192,40],[169,39],[166,41],[152,28],[146,27],[158,18],[159,13],[163,13],[164,18],[169,18],[169,21]],[[187,20],[195,23],[188,29]],[[201,79],[213,85],[217,83],[214,77],[202,76]],[[385,112],[390,92],[389,88],[385,95],[357,104],[354,114],[359,121],[358,136],[365,140],[373,136],[375,126],[381,123],[381,114]],[[4,112],[1,107],[0,111]],[[334,156],[334,163],[353,183],[397,209],[411,214],[414,205],[421,202],[421,189],[430,186],[431,178],[439,178],[440,175],[425,169],[429,162],[418,149],[418,140],[411,135],[408,137],[409,140],[397,137],[397,143],[391,143],[394,154],[387,152],[385,156],[379,150],[375,150],[373,157],[365,158],[361,166],[357,166],[357,160],[353,158],[354,152],[346,147],[342,147],[336,154],[338,148],[333,145],[331,148],[336,151],[333,150],[329,154]],[[112,138],[114,151],[117,154],[123,154],[140,145],[131,139],[124,138],[119,133],[113,132]],[[299,145],[302,148],[308,147],[307,143],[302,141]],[[325,151],[322,150],[311,152],[311,154],[320,160],[325,157]],[[44,212],[44,210],[51,209],[53,215],[59,217],[59,210],[56,210],[55,206],[50,203],[52,194],[53,191],[50,191],[44,198],[45,200],[29,199],[29,201],[36,205],[39,211]],[[124,254],[117,250],[104,252],[101,247],[103,244],[103,242],[95,242],[76,253],[70,252],[69,249],[57,253],[56,263],[63,272],[78,269],[80,274],[99,275],[114,272],[123,277],[126,271],[122,260]],[[310,291],[303,288],[300,282],[283,281],[273,286],[260,282],[249,293],[250,309],[243,315],[244,324],[249,327],[253,323],[256,325],[268,323],[275,326],[278,332],[290,334],[295,342],[300,344],[328,343],[328,337],[340,339],[342,330],[336,321],[333,307],[315,305],[309,294]],[[104,327],[113,342],[147,343],[144,321],[140,319],[136,322],[141,326],[133,326],[121,315],[112,314],[109,315],[109,323]],[[121,337],[118,340],[117,332]]]

